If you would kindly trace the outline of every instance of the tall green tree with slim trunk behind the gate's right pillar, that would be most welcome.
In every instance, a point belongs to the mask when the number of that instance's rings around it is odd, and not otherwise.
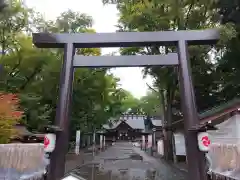
[[[215,27],[218,22],[218,13],[214,1],[104,1],[116,3],[120,12],[120,31],[161,31],[203,29]],[[214,65],[208,61],[208,52],[211,47],[189,47],[190,61],[192,64],[193,82],[196,93],[198,110],[216,104],[216,90],[213,82]],[[122,49],[122,54],[163,54],[174,52],[173,47],[146,47]],[[175,67],[145,68],[145,74],[154,78],[154,88],[164,102],[165,125],[170,126],[173,121],[173,109],[180,110],[178,90],[178,69]],[[204,75],[204,78],[202,78]],[[204,83],[203,83],[204,82]],[[206,84],[206,86],[201,85]],[[210,86],[208,86],[210,84]],[[178,115],[181,113],[177,113]],[[172,133],[165,133],[166,159],[172,157]],[[166,144],[167,143],[167,144]]]

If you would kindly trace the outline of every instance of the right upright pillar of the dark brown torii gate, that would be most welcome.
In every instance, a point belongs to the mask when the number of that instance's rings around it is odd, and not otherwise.
[[[206,180],[207,174],[204,172],[204,156],[198,149],[197,132],[189,131],[193,126],[200,123],[195,106],[195,97],[193,93],[191,66],[188,60],[188,44],[186,41],[179,41],[179,79],[181,105],[184,116],[185,143],[188,163],[188,179]]]

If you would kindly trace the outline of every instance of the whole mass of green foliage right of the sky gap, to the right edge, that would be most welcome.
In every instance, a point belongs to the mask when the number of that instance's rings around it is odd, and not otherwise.
[[[162,31],[219,28],[220,43],[213,46],[189,46],[194,92],[199,112],[238,96],[237,58],[239,57],[238,1],[180,0],[103,0],[116,4],[119,10],[119,31]],[[221,25],[222,23],[222,25]],[[223,25],[224,24],[224,25]],[[175,47],[151,46],[121,48],[121,54],[166,54]],[[234,68],[236,67],[236,68]],[[161,97],[165,125],[182,118],[177,67],[144,69],[153,80],[153,89]],[[167,134],[171,141],[171,133]],[[172,152],[171,145],[165,146]],[[169,155],[170,157],[171,155]]]

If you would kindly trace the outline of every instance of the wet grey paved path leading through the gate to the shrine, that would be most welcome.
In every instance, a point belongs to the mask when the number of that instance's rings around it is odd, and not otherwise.
[[[185,180],[186,173],[119,142],[72,171],[86,180]]]

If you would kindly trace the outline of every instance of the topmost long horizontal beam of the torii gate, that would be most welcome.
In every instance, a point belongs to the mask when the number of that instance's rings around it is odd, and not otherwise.
[[[187,41],[189,45],[216,44],[217,29],[156,32],[116,33],[33,33],[33,43],[39,48],[63,48],[73,43],[75,48],[141,47],[152,45],[176,45]]]

